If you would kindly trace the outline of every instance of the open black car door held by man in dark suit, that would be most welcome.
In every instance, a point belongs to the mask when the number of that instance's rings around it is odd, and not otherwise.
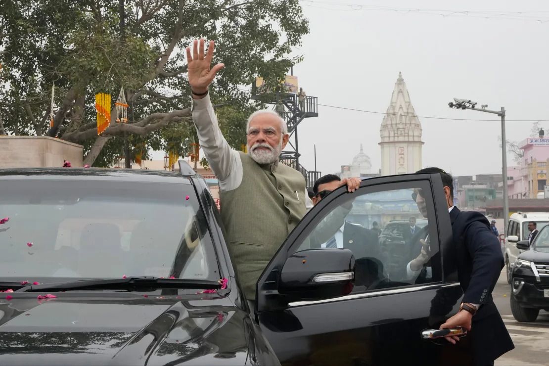
[[[463,295],[443,192],[439,174],[371,178],[307,213],[257,283],[257,319],[282,365],[469,364],[465,331],[457,345],[435,331]],[[428,224],[395,233],[406,240],[380,243],[371,229],[410,217]]]

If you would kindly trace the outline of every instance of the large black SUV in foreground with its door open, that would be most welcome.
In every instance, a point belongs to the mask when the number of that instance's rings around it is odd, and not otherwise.
[[[441,254],[421,283],[386,277],[385,259],[358,247],[377,239],[334,234],[343,247],[309,249],[350,203],[349,215],[389,221],[402,212],[394,192],[404,191],[419,216],[418,190],[431,251]],[[439,174],[367,179],[356,193],[324,198],[261,275],[254,313],[215,202],[184,162],[179,173],[3,169],[0,192],[2,365],[469,362],[467,336],[453,346],[433,330],[462,297]]]

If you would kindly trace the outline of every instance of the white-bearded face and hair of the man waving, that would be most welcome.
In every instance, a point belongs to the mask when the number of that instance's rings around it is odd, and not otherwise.
[[[248,128],[248,154],[257,164],[273,164],[286,147],[288,138],[287,134],[282,135],[280,120],[276,116],[257,115]]]

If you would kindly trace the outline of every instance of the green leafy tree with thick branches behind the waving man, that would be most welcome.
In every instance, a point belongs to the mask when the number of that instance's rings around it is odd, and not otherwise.
[[[298,0],[126,0],[125,32],[116,0],[3,2],[0,10],[0,120],[5,132],[58,137],[85,146],[85,162],[112,164],[125,132],[132,153],[193,141],[184,48],[216,41],[225,69],[211,88],[227,140],[239,148],[255,106],[243,85],[279,80],[293,47],[309,31]],[[279,61],[279,60],[283,61]],[[55,83],[54,125],[49,126]],[[97,136],[94,95],[114,101],[124,86],[128,123]],[[147,156],[143,156],[146,158]]]

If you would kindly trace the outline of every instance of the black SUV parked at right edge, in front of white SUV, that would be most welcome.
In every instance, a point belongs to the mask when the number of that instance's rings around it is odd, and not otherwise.
[[[540,309],[549,311],[549,226],[517,243],[525,250],[514,263],[511,280],[511,311],[519,322],[534,322]]]

